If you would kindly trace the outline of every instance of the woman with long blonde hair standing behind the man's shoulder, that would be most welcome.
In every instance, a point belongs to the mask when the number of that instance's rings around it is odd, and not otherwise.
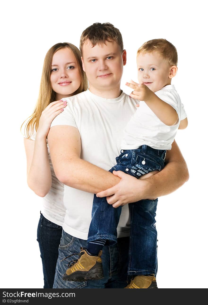
[[[67,42],[51,47],[44,60],[35,110],[22,125],[25,134],[27,183],[38,196],[43,197],[43,208],[37,228],[37,241],[43,264],[43,288],[53,288],[65,216],[64,185],[54,173],[47,134],[54,117],[67,105],[61,98],[85,90],[87,78],[82,70],[78,48]]]

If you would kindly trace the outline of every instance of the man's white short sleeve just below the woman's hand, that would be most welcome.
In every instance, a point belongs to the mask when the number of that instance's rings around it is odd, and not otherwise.
[[[67,101],[67,106],[64,108],[62,113],[58,114],[54,120],[52,121],[50,127],[58,126],[58,125],[68,125],[77,128],[77,124],[75,121],[73,103],[69,98],[62,99]]]

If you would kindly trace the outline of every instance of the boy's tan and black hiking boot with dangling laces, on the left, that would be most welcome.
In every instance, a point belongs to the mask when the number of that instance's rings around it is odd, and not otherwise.
[[[91,256],[86,252],[86,249],[82,249],[79,253],[79,259],[68,264],[69,268],[64,274],[63,280],[80,282],[103,278],[101,255],[102,250],[99,251],[98,256]]]

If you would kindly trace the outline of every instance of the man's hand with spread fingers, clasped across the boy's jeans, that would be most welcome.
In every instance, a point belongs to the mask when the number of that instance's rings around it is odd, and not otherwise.
[[[120,170],[114,170],[113,174],[121,178],[121,181],[112,188],[97,193],[97,197],[107,197],[107,202],[112,204],[114,208],[145,198],[144,194],[148,188],[147,180],[139,180]]]

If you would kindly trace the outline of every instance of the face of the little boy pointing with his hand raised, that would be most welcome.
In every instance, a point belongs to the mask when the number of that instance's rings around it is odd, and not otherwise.
[[[138,81],[156,92],[171,84],[171,66],[157,53],[139,53],[137,56]]]

